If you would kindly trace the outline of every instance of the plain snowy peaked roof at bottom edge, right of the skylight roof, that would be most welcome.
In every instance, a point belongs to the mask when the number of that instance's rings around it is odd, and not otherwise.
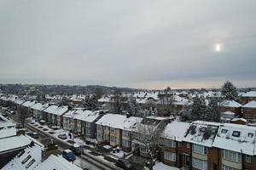
[[[62,156],[50,155],[45,161],[40,163],[35,170],[82,170],[80,167],[75,166],[71,162],[64,159]]]

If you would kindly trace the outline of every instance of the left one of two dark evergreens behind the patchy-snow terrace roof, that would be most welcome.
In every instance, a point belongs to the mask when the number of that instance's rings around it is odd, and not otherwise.
[[[207,105],[204,96],[199,97],[198,95],[196,95],[195,98],[193,99],[191,120],[205,120],[206,109]]]

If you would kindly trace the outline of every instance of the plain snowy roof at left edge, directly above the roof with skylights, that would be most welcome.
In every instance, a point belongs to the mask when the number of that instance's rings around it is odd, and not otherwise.
[[[30,143],[31,140],[23,135],[4,138],[0,140],[0,152],[14,150],[20,147],[24,147]]]

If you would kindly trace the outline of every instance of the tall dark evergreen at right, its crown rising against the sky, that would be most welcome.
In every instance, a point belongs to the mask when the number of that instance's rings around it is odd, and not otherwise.
[[[234,99],[238,98],[238,92],[236,87],[233,85],[232,82],[224,82],[223,87],[221,88],[221,94],[224,95],[226,99]]]

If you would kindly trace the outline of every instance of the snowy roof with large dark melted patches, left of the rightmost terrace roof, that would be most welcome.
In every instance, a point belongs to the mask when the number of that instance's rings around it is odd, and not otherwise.
[[[183,141],[212,147],[219,125],[220,123],[217,122],[192,122],[183,138]]]

